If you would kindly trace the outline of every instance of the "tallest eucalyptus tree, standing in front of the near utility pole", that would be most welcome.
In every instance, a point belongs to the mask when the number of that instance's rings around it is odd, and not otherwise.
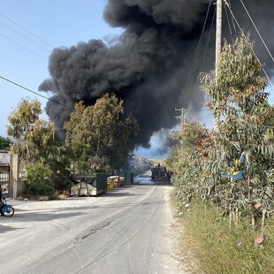
[[[209,109],[217,118],[214,148],[205,165],[205,198],[219,202],[230,213],[248,212],[255,217],[273,209],[273,109],[267,103],[267,81],[255,57],[249,36],[225,43],[217,77],[201,74],[211,96]],[[240,180],[231,174],[243,171]],[[226,174],[226,175],[225,175]]]

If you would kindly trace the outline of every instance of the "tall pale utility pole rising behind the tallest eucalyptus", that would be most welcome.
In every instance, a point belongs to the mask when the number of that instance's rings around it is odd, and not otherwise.
[[[216,53],[215,53],[215,76],[217,80],[218,65],[220,63],[221,50],[222,50],[222,8],[223,0],[217,0],[217,17],[216,17]],[[218,130],[219,122],[218,113],[214,116],[214,130]]]

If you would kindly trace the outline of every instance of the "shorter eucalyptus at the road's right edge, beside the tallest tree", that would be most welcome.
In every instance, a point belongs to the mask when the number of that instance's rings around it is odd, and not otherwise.
[[[173,137],[179,143],[171,149],[167,164],[173,172],[177,206],[182,212],[184,206],[201,197],[203,192],[202,162],[207,153],[209,130],[199,123],[186,121]]]

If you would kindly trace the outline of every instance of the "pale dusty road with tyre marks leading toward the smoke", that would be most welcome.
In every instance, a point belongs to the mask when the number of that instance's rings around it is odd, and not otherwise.
[[[0,217],[0,273],[182,274],[170,190],[141,184],[97,197],[13,201],[14,216]]]

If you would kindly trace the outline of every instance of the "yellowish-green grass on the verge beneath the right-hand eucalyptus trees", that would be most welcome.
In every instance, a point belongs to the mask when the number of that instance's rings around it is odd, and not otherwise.
[[[180,253],[189,273],[271,274],[274,273],[274,220],[268,220],[265,242],[255,246],[257,233],[246,220],[229,231],[228,219],[202,202],[194,202],[179,217],[183,231]]]

